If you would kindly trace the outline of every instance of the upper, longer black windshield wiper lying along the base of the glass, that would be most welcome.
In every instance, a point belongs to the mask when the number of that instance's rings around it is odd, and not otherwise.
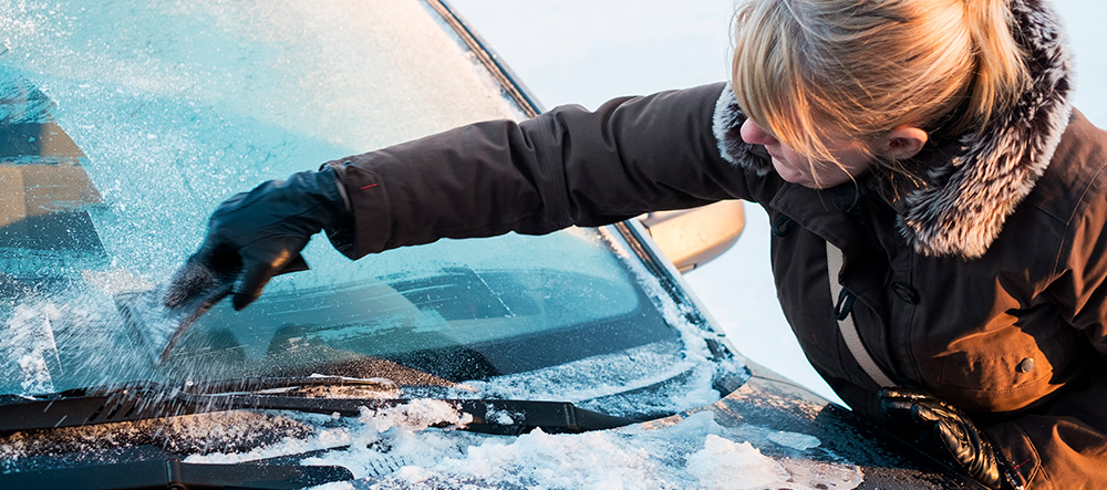
[[[70,389],[23,397],[0,395],[0,432],[76,427],[238,409],[294,410],[355,417],[363,408],[382,410],[412,398],[338,398],[287,395],[302,386],[363,384],[391,388],[386,380],[329,376],[255,379],[208,385],[170,386],[137,383]],[[377,389],[380,392],[380,389]],[[280,393],[280,394],[278,394]],[[546,432],[582,432],[637,424],[640,420],[579,408],[568,402],[434,398],[452,405],[472,421],[458,427],[484,434],[518,435],[541,428]]]

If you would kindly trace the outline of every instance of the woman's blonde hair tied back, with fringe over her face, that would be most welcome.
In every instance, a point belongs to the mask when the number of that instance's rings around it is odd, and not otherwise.
[[[1007,0],[751,0],[735,15],[732,81],[746,116],[834,161],[831,135],[902,125],[961,135],[1027,83]]]

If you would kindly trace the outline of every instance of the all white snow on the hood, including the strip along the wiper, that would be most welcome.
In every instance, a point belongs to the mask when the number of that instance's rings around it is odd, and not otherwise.
[[[856,488],[860,468],[805,452],[809,435],[759,426],[725,427],[711,410],[670,425],[634,425],[579,435],[535,430],[519,437],[430,428],[466,420],[449,405],[414,400],[364,411],[356,421],[241,453],[192,456],[232,463],[335,447],[303,461],[350,469],[355,479],[319,489],[375,488]],[[751,444],[776,445],[767,456]]]

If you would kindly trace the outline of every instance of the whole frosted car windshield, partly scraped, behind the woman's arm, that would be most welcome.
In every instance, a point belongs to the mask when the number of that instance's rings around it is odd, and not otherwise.
[[[0,7],[0,394],[328,374],[578,400],[681,378],[717,397],[696,327],[593,229],[356,262],[317,239],[310,271],[244,312],[216,305],[158,365],[149,319],[123,311],[196,249],[221,200],[523,113],[414,0],[32,3]],[[549,369],[556,386],[535,375]]]

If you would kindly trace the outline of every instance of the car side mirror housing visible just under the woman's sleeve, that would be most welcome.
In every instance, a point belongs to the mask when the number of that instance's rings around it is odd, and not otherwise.
[[[639,217],[658,248],[681,272],[722,256],[742,234],[746,215],[739,200],[724,200],[676,211]]]

